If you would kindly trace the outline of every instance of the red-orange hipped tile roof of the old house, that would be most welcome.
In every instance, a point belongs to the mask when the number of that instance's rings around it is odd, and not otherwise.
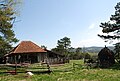
[[[22,41],[18,44],[11,53],[37,53],[47,52],[31,41]]]

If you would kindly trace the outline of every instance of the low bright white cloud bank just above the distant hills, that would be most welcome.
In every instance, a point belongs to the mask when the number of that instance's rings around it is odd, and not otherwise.
[[[73,42],[73,41],[72,41]],[[105,40],[101,39],[100,37],[96,36],[89,36],[88,38],[79,39],[79,41],[75,40],[74,43],[72,43],[73,47],[91,47],[91,46],[112,46],[115,43],[115,41],[111,42],[105,42]]]

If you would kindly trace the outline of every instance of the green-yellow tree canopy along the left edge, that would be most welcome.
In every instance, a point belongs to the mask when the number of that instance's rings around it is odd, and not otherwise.
[[[13,31],[15,5],[17,0],[0,0],[0,55],[8,53],[12,44],[18,42]]]

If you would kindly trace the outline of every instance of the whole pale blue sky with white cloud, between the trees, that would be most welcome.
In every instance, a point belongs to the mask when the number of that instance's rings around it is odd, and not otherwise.
[[[68,37],[72,47],[105,46],[101,22],[107,22],[119,0],[23,0],[14,24],[16,37],[55,48]]]

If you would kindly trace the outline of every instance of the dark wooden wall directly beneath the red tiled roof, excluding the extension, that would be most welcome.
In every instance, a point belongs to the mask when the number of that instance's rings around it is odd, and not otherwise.
[[[16,54],[8,57],[8,63],[15,63],[15,58],[17,63],[40,63],[45,62],[46,57],[46,53]]]

